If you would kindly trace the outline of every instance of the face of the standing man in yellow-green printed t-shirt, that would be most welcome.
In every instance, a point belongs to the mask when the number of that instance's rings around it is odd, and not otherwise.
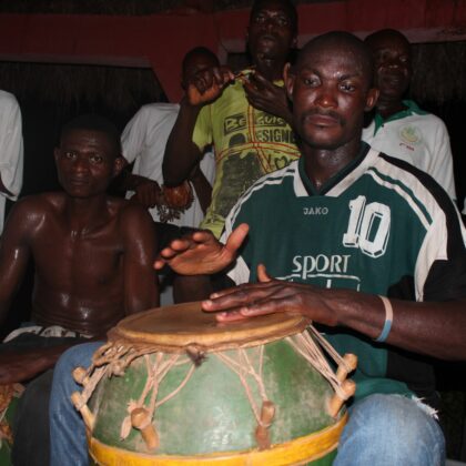
[[[262,1],[251,16],[247,42],[253,60],[286,60],[296,41],[290,11],[278,0]]]

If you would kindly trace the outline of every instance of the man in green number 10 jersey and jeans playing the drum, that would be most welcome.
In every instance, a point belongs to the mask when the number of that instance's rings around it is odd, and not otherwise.
[[[312,40],[285,69],[302,159],[245,192],[222,242],[193,233],[162,250],[155,266],[206,282],[226,271],[240,286],[202,304],[221,322],[298,313],[341,354],[357,354],[336,465],[442,465],[429,359],[466,358],[466,233],[432,178],[361,142],[364,112],[377,98],[372,69],[350,33]],[[89,346],[60,362],[54,443],[77,435],[69,405],[77,388],[67,384]]]

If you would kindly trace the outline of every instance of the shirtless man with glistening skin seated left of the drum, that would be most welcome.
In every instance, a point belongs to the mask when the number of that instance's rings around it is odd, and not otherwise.
[[[125,315],[159,304],[151,216],[142,206],[105,193],[123,164],[120,154],[119,133],[109,121],[94,115],[73,120],[54,152],[64,191],[26,197],[11,211],[0,244],[0,318],[31,257],[33,324],[0,346],[1,384],[30,381],[80,338],[103,338]],[[17,466],[48,464],[32,440],[48,434],[42,423],[49,382],[51,372],[30,383],[21,399]],[[42,418],[36,408],[44,413]],[[48,447],[48,438],[44,443]]]

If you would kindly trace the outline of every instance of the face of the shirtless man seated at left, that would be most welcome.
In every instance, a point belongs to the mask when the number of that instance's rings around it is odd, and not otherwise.
[[[107,191],[122,168],[109,136],[99,131],[70,130],[54,151],[59,181],[72,197],[92,197]]]

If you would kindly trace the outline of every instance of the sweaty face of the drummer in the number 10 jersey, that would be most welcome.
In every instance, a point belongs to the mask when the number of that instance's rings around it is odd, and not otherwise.
[[[314,47],[304,52],[285,84],[293,101],[294,128],[303,142],[335,150],[361,139],[364,111],[375,104],[362,59],[344,44]]]

